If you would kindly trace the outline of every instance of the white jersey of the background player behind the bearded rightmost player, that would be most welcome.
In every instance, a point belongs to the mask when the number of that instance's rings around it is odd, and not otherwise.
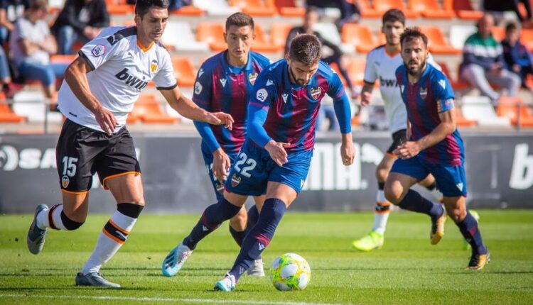
[[[428,62],[441,70],[431,55],[428,57]],[[379,91],[384,101],[385,115],[391,133],[407,128],[407,110],[396,81],[396,70],[403,64],[402,55],[400,53],[388,55],[384,45],[370,51],[365,64],[365,82],[374,84],[379,79]]]

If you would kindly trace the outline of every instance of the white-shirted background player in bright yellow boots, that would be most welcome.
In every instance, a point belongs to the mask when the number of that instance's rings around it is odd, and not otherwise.
[[[379,91],[384,101],[385,114],[389,122],[389,131],[392,134],[392,144],[376,168],[377,194],[374,214],[374,226],[367,235],[355,240],[352,247],[360,251],[370,251],[381,248],[384,243],[384,233],[390,212],[390,202],[385,199],[383,187],[389,171],[396,160],[392,153],[398,145],[407,141],[407,111],[405,110],[402,95],[400,94],[396,75],[397,67],[403,65],[400,55],[400,35],[405,29],[404,13],[398,9],[390,9],[382,16],[382,33],[387,43],[380,45],[367,55],[365,66],[365,84],[361,90],[361,105],[370,104],[370,97],[374,83],[379,79]],[[431,55],[428,58],[432,65],[438,67]],[[431,174],[420,182],[430,192],[436,192],[435,179]],[[432,243],[438,240],[432,240]]]

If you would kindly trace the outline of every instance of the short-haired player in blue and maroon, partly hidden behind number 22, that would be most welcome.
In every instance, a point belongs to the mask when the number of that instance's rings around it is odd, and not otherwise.
[[[227,50],[210,57],[200,68],[195,82],[193,101],[207,111],[230,113],[234,119],[231,131],[222,126],[210,126],[195,121],[202,136],[202,155],[217,200],[222,199],[224,182],[230,165],[235,164],[237,153],[246,138],[246,109],[249,92],[259,72],[270,65],[270,60],[257,52],[250,52],[255,39],[254,19],[245,13],[234,13],[226,20],[224,35]],[[247,228],[254,226],[264,196],[254,196],[257,206],[245,206],[230,219],[230,233],[240,246]],[[247,222],[249,225],[247,226]],[[175,257],[169,257],[173,259]],[[171,274],[163,274],[172,276]],[[259,258],[248,270],[248,275],[264,276],[263,261]]]

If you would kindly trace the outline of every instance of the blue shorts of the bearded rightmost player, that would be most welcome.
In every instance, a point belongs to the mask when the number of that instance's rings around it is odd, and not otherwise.
[[[465,167],[461,165],[439,165],[421,160],[419,156],[398,159],[392,165],[391,172],[405,174],[421,181],[428,174],[433,174],[437,189],[446,197],[466,196]]]

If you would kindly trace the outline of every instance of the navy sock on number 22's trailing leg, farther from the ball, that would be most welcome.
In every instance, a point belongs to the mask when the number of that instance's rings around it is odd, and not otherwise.
[[[190,250],[194,250],[200,240],[215,231],[221,223],[237,215],[240,209],[240,206],[234,206],[224,198],[220,199],[216,204],[208,206],[196,226],[190,231],[190,234],[183,239],[183,245],[186,245]]]

